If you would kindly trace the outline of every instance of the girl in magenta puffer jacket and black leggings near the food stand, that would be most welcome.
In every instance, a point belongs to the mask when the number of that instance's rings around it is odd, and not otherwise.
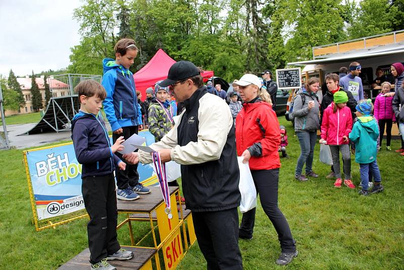
[[[386,126],[386,134],[387,134],[387,143],[386,150],[391,151],[390,141],[391,141],[391,127],[393,126],[393,122],[395,121],[395,116],[393,113],[393,98],[385,96],[386,93],[390,92],[391,84],[388,81],[382,83],[382,89],[380,94],[376,97],[375,100],[375,108],[374,108],[374,116],[379,123],[380,134],[379,141],[380,147],[382,146],[383,134],[384,134],[384,126]]]

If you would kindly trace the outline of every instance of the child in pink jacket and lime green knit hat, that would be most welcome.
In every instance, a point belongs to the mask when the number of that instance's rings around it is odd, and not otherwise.
[[[341,168],[339,164],[339,151],[342,154],[344,185],[350,189],[355,189],[350,176],[350,151],[349,151],[349,132],[352,130],[352,115],[350,109],[346,107],[348,96],[343,91],[334,94],[332,102],[323,113],[323,122],[321,124],[320,144],[326,143],[330,146],[332,162],[337,177],[334,187],[340,188]]]

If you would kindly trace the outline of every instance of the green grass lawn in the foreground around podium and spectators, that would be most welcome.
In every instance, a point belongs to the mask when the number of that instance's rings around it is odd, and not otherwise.
[[[404,265],[404,157],[394,152],[378,154],[385,191],[360,197],[356,190],[333,188],[326,179],[330,168],[319,162],[316,146],[314,170],[317,179],[294,180],[299,155],[290,123],[289,159],[282,159],[279,207],[288,219],[299,255],[289,269],[403,269]],[[399,141],[392,141],[398,148]],[[87,247],[86,219],[56,229],[35,232],[21,150],[0,151],[0,268],[55,269]],[[352,156],[352,177],[359,185],[359,166]],[[241,215],[239,216],[241,219]],[[122,218],[122,217],[120,217]],[[140,239],[148,225],[135,227]],[[121,245],[130,245],[127,226],[118,231]],[[239,241],[245,269],[281,268],[275,265],[280,247],[277,234],[258,206],[254,239]],[[197,244],[178,269],[206,269]]]

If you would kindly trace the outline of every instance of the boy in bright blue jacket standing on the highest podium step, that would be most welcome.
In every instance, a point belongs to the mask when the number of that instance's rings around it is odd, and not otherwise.
[[[135,41],[123,38],[115,45],[116,60],[105,58],[103,60],[104,76],[103,86],[107,91],[104,100],[104,110],[113,131],[112,140],[115,143],[120,136],[125,140],[142,129],[142,114],[137,103],[135,81],[129,71],[137,56]],[[121,154],[117,154],[122,158]],[[137,164],[126,166],[126,170],[116,170],[117,198],[133,201],[139,198],[137,194],[147,194],[150,190],[139,183]],[[136,194],[137,193],[137,194]]]

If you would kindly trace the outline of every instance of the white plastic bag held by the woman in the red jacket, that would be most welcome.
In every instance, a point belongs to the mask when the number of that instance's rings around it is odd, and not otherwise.
[[[248,162],[243,163],[243,157],[237,157],[238,168],[240,169],[240,182],[238,189],[241,193],[240,212],[245,213],[252,208],[257,207],[257,190],[252,180],[251,171]]]

